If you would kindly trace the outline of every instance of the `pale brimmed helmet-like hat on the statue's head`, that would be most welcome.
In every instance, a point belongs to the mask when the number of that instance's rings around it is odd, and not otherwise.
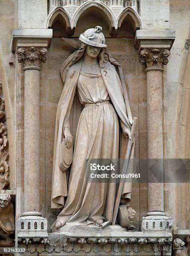
[[[84,33],[80,34],[79,40],[91,46],[106,48],[105,37],[102,33],[102,27],[96,26],[95,28],[89,28]]]

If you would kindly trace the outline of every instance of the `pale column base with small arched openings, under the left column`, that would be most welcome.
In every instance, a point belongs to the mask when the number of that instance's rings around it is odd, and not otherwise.
[[[18,242],[28,244],[43,240],[48,243],[47,219],[43,218],[40,212],[24,212],[18,219]]]

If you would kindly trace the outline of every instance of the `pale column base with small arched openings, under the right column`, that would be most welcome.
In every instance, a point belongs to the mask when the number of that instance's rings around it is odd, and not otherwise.
[[[140,230],[147,231],[166,231],[171,232],[172,218],[165,215],[165,212],[152,211],[148,212],[141,221]]]

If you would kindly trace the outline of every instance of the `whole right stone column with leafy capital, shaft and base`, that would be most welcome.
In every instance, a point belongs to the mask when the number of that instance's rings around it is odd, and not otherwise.
[[[150,160],[150,164],[156,166],[154,171],[156,168],[158,178],[162,178],[163,175],[162,64],[168,64],[169,55],[168,50],[144,49],[140,52],[139,58],[140,63],[147,66],[145,72],[147,73],[148,159],[154,159]],[[149,178],[153,178],[151,172],[149,174]],[[164,213],[163,182],[148,183],[148,211],[141,228],[163,230],[171,226]],[[147,221],[150,219],[151,221]],[[164,219],[167,221],[161,223],[160,220]]]

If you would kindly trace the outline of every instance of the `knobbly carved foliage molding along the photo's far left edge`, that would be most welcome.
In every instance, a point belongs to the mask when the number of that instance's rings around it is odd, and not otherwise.
[[[2,94],[2,82],[0,81],[0,94]],[[5,100],[0,97],[0,189],[9,185],[9,166],[7,164],[7,126],[5,125]]]

